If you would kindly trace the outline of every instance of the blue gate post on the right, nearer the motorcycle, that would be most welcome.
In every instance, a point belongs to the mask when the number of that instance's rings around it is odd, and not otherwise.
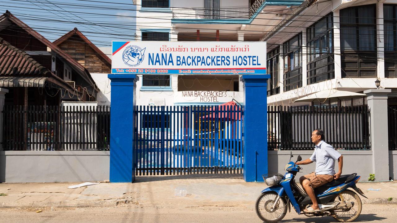
[[[244,180],[263,182],[268,173],[267,80],[270,75],[243,75]]]

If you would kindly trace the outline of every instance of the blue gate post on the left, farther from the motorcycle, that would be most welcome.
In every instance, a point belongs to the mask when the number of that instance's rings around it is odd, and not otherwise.
[[[109,74],[110,101],[110,182],[135,181],[133,157],[133,112],[135,106],[135,74]]]

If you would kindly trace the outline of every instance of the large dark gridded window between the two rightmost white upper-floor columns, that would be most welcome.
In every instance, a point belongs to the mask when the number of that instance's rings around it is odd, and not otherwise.
[[[342,77],[376,77],[376,5],[340,10]]]

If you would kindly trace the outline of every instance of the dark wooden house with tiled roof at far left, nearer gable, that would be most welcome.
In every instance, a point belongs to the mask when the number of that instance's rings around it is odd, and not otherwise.
[[[0,16],[0,87],[5,105],[60,105],[96,101],[88,69],[12,13]]]

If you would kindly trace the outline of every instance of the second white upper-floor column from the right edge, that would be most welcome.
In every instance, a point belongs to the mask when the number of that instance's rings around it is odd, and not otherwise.
[[[341,35],[340,35],[339,10],[333,12],[333,60],[335,67],[335,79],[342,78],[341,69]]]

